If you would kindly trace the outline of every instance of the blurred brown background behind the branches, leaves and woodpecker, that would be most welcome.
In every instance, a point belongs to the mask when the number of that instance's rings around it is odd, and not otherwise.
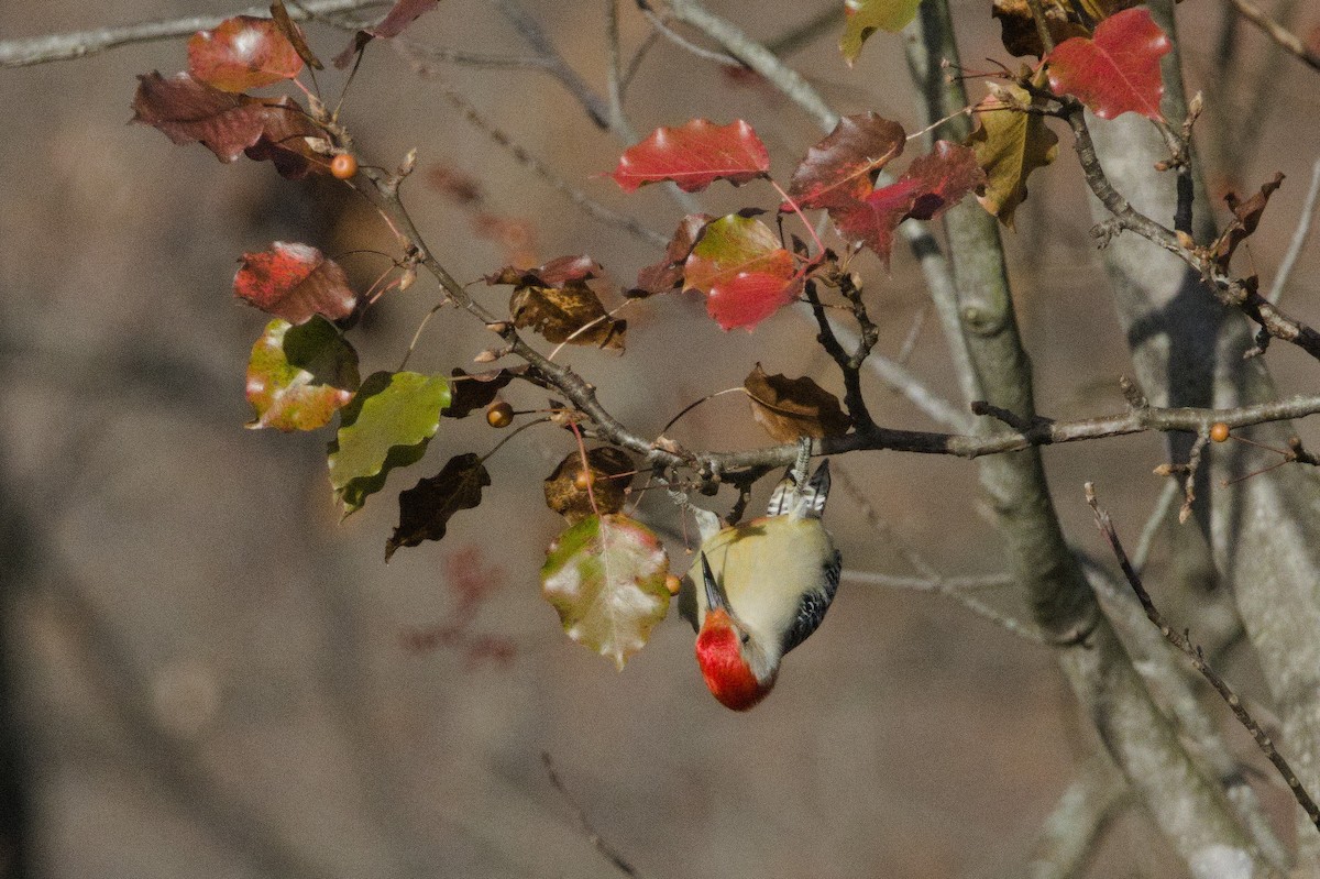
[[[651,25],[622,5],[631,54]],[[766,41],[838,5],[710,3]],[[970,74],[995,70],[986,58],[1015,66],[987,5],[953,1]],[[1275,12],[1303,34],[1320,26],[1315,8],[1296,7]],[[408,36],[528,57],[502,8],[446,0]],[[603,94],[606,4],[520,8]],[[1180,9],[1189,79],[1206,91],[1199,135],[1212,189],[1254,191],[1275,170],[1288,176],[1249,243],[1269,284],[1317,157],[1315,73],[1245,24],[1225,54],[1221,8]],[[3,4],[0,40],[236,11],[182,0]],[[902,38],[876,34],[849,70],[836,48],[841,26],[840,17],[812,30],[788,58],[841,112],[875,110],[916,129]],[[323,58],[347,42],[326,25],[305,30]],[[391,242],[334,181],[290,182],[247,160],[222,165],[199,145],[125,124],[135,75],[185,66],[178,40],[0,70],[0,756],[9,837],[24,841],[8,875],[619,875],[591,833],[643,876],[1023,874],[1041,822],[1096,747],[1048,648],[946,597],[845,582],[772,697],[734,714],[706,693],[692,632],[676,616],[616,673],[570,643],[540,597],[537,569],[564,528],[540,480],[573,450],[569,434],[523,433],[491,459],[494,484],[478,509],[457,515],[442,542],[385,565],[397,491],[504,434],[479,417],[446,420],[421,463],[341,523],[325,474],[329,432],[244,430],[244,368],[265,317],[232,298],[238,257],[272,240],[305,242],[363,289],[388,263],[360,251]],[[660,187],[624,197],[602,177],[626,144],[591,125],[558,82],[527,69],[417,66],[416,53],[372,45],[343,120],[372,162],[393,168],[418,150],[407,203],[454,276],[474,281],[511,261],[585,252],[618,289],[656,261],[653,245],[576,210],[444,96],[455,88],[583,193],[668,235],[685,211]],[[339,71],[319,78],[338,95]],[[975,81],[970,90],[983,94]],[[627,108],[642,133],[693,116],[747,119],[779,179],[821,136],[754,77],[668,40],[642,62]],[[1067,418],[1122,408],[1127,356],[1071,139],[1060,135],[1061,161],[1031,178],[1018,230],[1005,236],[1039,410]],[[758,185],[701,197],[711,214],[775,203]],[[911,255],[896,251],[890,275],[862,268],[882,325],[878,351],[911,348],[909,368],[956,397]],[[1311,323],[1320,321],[1317,269],[1316,248],[1305,249],[1287,293]],[[495,308],[508,293],[474,289]],[[437,300],[422,278],[372,309],[358,338],[363,375],[397,364]],[[644,436],[741,385],[756,362],[840,389],[814,330],[791,310],[754,334],[721,333],[701,302],[680,296],[620,317],[631,330],[626,356],[572,350],[561,359]],[[411,368],[475,370],[491,341],[466,315],[441,311]],[[1313,387],[1313,363],[1286,346],[1269,356],[1284,392]],[[879,381],[869,393],[880,424],[935,428]],[[506,397],[545,404],[529,387]],[[767,442],[741,395],[706,403],[672,436],[725,449]],[[1086,479],[1135,538],[1160,492],[1151,469],[1162,461],[1156,437],[1048,449],[1071,538],[1101,556]],[[837,491],[826,517],[845,569],[1002,570],[973,463],[882,453],[836,467],[855,487]],[[711,503],[723,512],[731,502]],[[642,509],[672,535],[685,568],[675,509],[661,498]],[[1151,569],[1156,593],[1166,544]],[[1011,590],[981,598],[1024,615]],[[1230,659],[1230,677],[1259,684],[1247,655]],[[1245,735],[1229,735],[1247,765],[1262,764]],[[1286,814],[1287,795],[1266,777],[1253,780]],[[1092,875],[1177,875],[1142,814],[1115,814]]]

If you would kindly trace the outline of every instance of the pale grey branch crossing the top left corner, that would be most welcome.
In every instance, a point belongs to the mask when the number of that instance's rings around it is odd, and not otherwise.
[[[305,3],[290,4],[289,17],[305,21],[314,16],[383,5],[388,5],[388,3],[385,0],[306,0]],[[269,13],[269,7],[251,7],[219,16],[166,18],[117,28],[98,28],[95,30],[51,33],[24,40],[4,40],[0,41],[0,67],[26,67],[51,61],[86,58],[87,55],[95,55],[110,49],[139,42],[158,42],[187,37],[198,30],[218,28],[220,22],[235,15],[265,17]]]

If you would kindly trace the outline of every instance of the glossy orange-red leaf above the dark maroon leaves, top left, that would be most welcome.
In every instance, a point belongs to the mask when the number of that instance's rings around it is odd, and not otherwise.
[[[187,67],[223,91],[247,91],[293,79],[302,58],[271,18],[235,16],[187,41]]]

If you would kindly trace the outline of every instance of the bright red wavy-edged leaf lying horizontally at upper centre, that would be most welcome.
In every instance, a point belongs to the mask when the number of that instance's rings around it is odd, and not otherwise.
[[[751,125],[741,119],[727,125],[693,119],[682,128],[656,128],[626,149],[611,177],[627,193],[667,179],[696,193],[717,179],[737,186],[767,172],[770,152]]]

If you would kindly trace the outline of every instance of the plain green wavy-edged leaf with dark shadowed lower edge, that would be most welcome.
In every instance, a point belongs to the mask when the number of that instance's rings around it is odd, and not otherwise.
[[[330,484],[346,516],[380,491],[391,470],[425,454],[449,403],[449,381],[441,375],[375,372],[362,383],[330,443]]]

